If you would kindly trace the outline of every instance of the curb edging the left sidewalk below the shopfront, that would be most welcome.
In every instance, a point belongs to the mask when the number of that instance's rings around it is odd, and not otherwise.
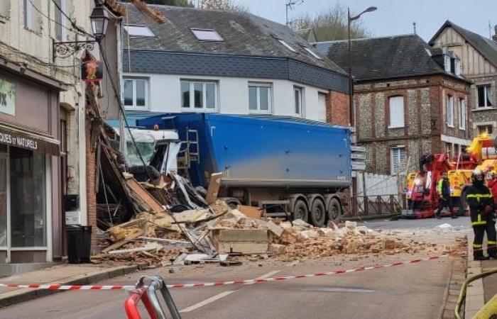
[[[82,274],[77,276],[72,276],[62,281],[55,281],[53,284],[62,285],[87,285],[93,284],[97,281],[102,281],[105,279],[111,279],[117,276],[124,276],[126,274],[131,274],[136,272],[138,266],[120,266],[111,269],[104,269],[97,272],[90,272],[88,274]],[[53,293],[58,293],[55,290],[33,290],[33,289],[18,289],[14,291],[9,291],[6,293],[1,293],[0,295],[0,308],[11,306],[16,303],[23,303],[25,301],[30,301],[35,298],[40,298],[43,296],[48,296]]]

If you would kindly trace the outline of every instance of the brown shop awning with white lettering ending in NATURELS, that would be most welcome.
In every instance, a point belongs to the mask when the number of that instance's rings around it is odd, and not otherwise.
[[[0,144],[60,156],[60,141],[0,124]]]

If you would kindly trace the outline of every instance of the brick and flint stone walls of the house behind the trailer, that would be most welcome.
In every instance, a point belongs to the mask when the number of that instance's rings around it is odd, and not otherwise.
[[[454,128],[446,123],[446,96],[454,96]],[[403,146],[410,158],[405,167],[416,170],[425,152],[443,150],[441,135],[469,140],[471,130],[459,130],[458,99],[468,100],[469,84],[449,77],[433,76],[397,81],[356,84],[357,142],[366,146],[366,170],[391,174],[391,149]],[[389,98],[403,96],[404,126],[390,128]],[[466,102],[467,105],[467,102]],[[469,110],[466,110],[466,119]]]

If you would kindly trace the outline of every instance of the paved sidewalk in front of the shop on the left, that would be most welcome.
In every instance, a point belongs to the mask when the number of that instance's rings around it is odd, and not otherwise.
[[[60,264],[54,267],[0,278],[1,284],[92,284],[135,272],[136,266],[104,268],[94,264]],[[57,291],[0,287],[0,307],[22,303]]]

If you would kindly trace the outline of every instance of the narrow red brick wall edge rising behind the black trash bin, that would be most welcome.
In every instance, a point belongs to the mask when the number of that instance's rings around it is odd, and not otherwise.
[[[95,194],[96,158],[91,143],[91,120],[86,119],[86,154],[87,154],[87,218],[92,226],[92,252],[97,247],[97,196]]]

